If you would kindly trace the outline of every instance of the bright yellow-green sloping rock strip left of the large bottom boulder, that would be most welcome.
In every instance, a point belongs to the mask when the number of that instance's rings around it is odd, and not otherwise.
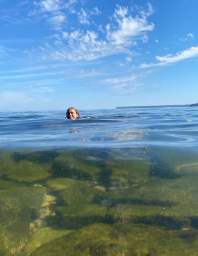
[[[38,229],[33,235],[28,238],[21,252],[16,253],[16,256],[28,256],[40,246],[53,241],[56,238],[69,234],[70,230],[55,230],[50,227]]]

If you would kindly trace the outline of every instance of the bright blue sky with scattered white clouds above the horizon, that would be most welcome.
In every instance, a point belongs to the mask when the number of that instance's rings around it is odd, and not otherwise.
[[[197,0],[0,0],[0,111],[198,102]]]

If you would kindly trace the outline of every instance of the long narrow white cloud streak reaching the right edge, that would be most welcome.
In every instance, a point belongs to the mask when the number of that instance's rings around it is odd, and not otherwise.
[[[175,55],[167,54],[164,56],[156,56],[155,59],[159,61],[159,63],[141,64],[139,67],[145,68],[151,66],[162,66],[195,57],[198,57],[198,46],[192,46],[191,48],[178,52]]]

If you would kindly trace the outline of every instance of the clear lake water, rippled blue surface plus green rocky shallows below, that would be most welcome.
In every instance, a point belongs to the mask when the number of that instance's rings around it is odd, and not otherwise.
[[[0,256],[198,256],[198,108],[80,114],[0,112]]]

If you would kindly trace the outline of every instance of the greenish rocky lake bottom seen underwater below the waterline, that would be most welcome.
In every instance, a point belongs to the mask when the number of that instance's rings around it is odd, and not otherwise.
[[[198,157],[160,147],[0,150],[0,255],[197,256]]]

